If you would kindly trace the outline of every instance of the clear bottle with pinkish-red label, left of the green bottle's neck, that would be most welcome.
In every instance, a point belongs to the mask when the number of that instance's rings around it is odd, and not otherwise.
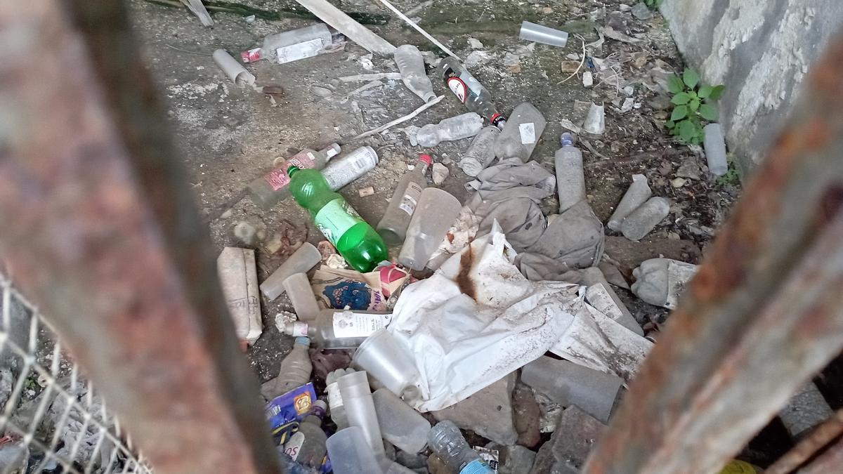
[[[337,143],[331,143],[318,152],[304,148],[292,158],[283,160],[274,170],[249,183],[248,189],[252,202],[262,209],[269,209],[290,196],[290,190],[287,187],[290,184],[290,175],[287,175],[287,167],[292,164],[298,168],[321,170],[325,168],[328,160],[339,153],[340,145]]]

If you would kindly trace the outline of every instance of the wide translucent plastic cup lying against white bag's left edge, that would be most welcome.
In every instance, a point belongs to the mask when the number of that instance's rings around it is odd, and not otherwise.
[[[357,347],[352,365],[365,370],[396,396],[417,395],[416,380],[421,377],[407,349],[386,329],[374,332]]]

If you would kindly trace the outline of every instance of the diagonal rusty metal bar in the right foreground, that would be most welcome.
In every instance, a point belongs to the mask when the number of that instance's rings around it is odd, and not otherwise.
[[[843,37],[584,472],[716,472],[843,347]]]

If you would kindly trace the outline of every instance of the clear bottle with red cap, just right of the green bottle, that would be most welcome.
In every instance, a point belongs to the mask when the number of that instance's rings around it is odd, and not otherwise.
[[[427,187],[425,173],[430,166],[429,154],[419,155],[416,168],[405,173],[395,186],[395,193],[389,200],[384,217],[380,219],[378,234],[384,238],[387,245],[399,245],[404,242],[407,234],[407,226],[410,225],[410,218],[416,210],[416,204],[421,197],[421,190]]]

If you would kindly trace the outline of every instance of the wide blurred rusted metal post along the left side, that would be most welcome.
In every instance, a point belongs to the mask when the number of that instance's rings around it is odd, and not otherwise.
[[[125,5],[0,2],[0,261],[156,471],[280,472]]]

